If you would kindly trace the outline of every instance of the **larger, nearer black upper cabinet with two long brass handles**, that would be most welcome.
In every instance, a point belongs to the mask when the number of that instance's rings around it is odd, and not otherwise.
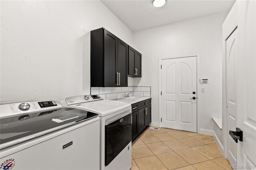
[[[128,86],[128,45],[104,28],[91,31],[91,87]]]

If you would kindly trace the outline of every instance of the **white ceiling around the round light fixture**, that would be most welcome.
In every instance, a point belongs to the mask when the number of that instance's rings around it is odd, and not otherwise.
[[[167,0],[156,8],[152,0],[101,0],[132,32],[229,11],[234,0]]]

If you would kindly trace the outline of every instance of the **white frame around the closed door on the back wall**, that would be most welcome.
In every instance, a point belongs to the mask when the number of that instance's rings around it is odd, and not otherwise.
[[[159,58],[159,127],[162,127],[161,117],[162,117],[162,99],[161,99],[161,91],[162,91],[162,69],[161,63],[164,59],[174,59],[174,58],[185,58],[185,57],[196,57],[196,90],[197,90],[197,103],[196,103],[196,115],[197,115],[197,132],[200,132],[200,99],[201,99],[201,84],[200,84],[200,53],[198,54],[190,54],[190,55],[178,55],[171,57],[160,57]],[[202,129],[203,130],[203,129]]]

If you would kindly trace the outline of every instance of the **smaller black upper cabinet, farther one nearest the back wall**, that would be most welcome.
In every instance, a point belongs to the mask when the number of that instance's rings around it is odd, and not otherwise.
[[[141,77],[141,53],[129,46],[128,75]]]

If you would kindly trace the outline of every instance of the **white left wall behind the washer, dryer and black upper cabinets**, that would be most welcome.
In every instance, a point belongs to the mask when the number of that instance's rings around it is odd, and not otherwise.
[[[132,32],[100,1],[0,3],[1,101],[90,94],[90,30],[104,27],[133,45]]]

